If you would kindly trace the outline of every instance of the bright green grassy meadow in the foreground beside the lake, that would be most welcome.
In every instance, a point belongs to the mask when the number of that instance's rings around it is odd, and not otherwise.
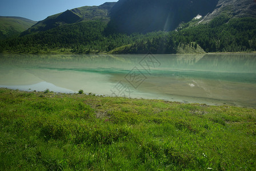
[[[256,109],[0,89],[0,170],[255,170]]]

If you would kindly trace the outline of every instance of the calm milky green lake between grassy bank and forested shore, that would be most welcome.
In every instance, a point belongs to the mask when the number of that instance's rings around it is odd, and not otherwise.
[[[0,87],[256,108],[256,54],[0,55]]]

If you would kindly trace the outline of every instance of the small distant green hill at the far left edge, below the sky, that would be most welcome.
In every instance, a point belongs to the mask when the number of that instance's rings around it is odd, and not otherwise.
[[[0,16],[0,39],[18,35],[33,26],[35,21],[22,17],[1,17]]]

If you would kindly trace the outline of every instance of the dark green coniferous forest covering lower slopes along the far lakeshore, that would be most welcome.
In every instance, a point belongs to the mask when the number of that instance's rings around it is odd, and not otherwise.
[[[181,46],[201,47],[205,52],[256,50],[256,18],[230,19],[222,15],[209,23],[195,24],[195,21],[183,23],[174,31],[146,34],[113,32],[106,22],[83,21],[2,40],[0,51],[75,54],[137,54],[150,51],[155,54],[175,54]]]

